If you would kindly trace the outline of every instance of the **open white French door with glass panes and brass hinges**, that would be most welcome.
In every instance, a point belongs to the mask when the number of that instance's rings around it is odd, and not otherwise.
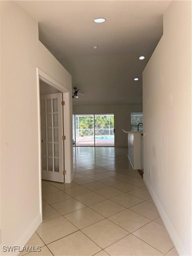
[[[62,93],[42,95],[41,177],[64,182],[64,143]]]

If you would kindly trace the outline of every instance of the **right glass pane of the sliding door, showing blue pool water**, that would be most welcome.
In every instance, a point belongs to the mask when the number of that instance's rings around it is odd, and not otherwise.
[[[114,114],[95,115],[95,146],[114,146]]]

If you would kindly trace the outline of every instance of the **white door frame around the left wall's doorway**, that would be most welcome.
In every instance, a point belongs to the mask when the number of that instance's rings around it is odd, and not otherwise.
[[[64,135],[66,139],[64,141],[64,170],[65,183],[71,182],[71,173],[73,169],[72,165],[72,140],[71,140],[71,115],[70,115],[70,90],[64,85],[57,82],[54,78],[46,74],[40,68],[37,68],[37,110],[38,110],[38,157],[39,157],[39,197],[40,197],[40,213],[42,222],[42,189],[41,189],[41,115],[40,115],[40,85],[39,80],[45,82],[46,84],[54,87],[62,93],[63,101],[65,101],[65,106],[63,107],[64,116]],[[66,161],[66,159],[68,161]]]

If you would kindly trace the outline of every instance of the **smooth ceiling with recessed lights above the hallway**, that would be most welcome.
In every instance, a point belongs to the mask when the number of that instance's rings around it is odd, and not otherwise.
[[[142,104],[142,71],[163,34],[170,1],[17,2],[39,22],[40,41],[85,94],[76,105]],[[106,22],[94,23],[98,17]]]

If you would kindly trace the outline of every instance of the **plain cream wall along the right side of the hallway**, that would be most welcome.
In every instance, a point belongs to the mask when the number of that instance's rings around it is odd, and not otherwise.
[[[144,180],[179,254],[191,255],[191,1],[171,2],[163,26],[143,72]]]

